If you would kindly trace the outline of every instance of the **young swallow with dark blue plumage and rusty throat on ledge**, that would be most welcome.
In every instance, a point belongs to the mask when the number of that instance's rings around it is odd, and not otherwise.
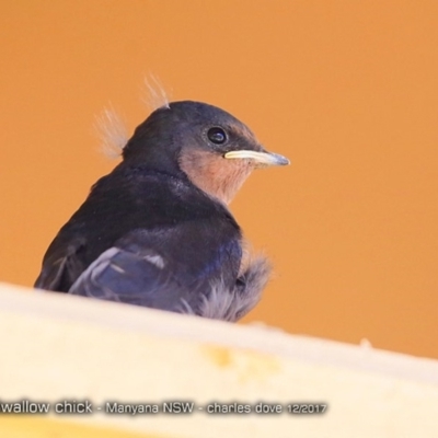
[[[35,288],[235,322],[272,268],[229,204],[253,170],[286,164],[217,106],[160,106],[59,230]]]

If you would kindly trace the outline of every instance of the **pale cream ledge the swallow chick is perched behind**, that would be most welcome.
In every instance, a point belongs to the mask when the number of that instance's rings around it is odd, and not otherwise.
[[[88,400],[94,411],[0,413],[0,425],[14,437],[49,437],[55,429],[72,437],[79,426],[97,427],[93,437],[438,436],[433,359],[5,284],[0,331],[0,403]],[[104,413],[106,402],[161,407],[169,401],[194,402],[195,413]],[[208,414],[212,402],[251,408],[266,402],[284,411],[290,403],[323,403],[327,410]]]

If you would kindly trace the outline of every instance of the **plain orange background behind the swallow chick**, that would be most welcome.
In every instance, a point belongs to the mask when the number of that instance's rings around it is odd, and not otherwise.
[[[276,278],[246,319],[438,358],[438,2],[3,1],[0,279],[32,285],[58,229],[115,162],[143,77],[245,122],[292,165],[232,210]]]

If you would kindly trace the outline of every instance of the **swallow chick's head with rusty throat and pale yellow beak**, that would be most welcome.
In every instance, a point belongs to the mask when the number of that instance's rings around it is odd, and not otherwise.
[[[224,204],[254,169],[289,164],[285,157],[266,151],[231,114],[189,101],[154,111],[136,129],[123,157],[168,173],[183,172]]]

